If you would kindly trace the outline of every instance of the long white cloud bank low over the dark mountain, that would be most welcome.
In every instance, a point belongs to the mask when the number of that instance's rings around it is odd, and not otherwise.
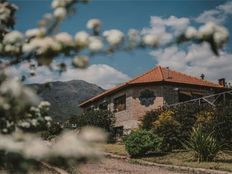
[[[19,67],[11,69],[12,74],[27,73],[28,64],[23,63]],[[119,83],[128,81],[130,77],[117,69],[106,64],[90,65],[86,69],[68,68],[61,75],[50,71],[46,67],[38,67],[36,75],[27,78],[26,83],[45,83],[50,81],[69,81],[69,80],[84,80],[89,83],[94,83],[104,89],[111,88]]]

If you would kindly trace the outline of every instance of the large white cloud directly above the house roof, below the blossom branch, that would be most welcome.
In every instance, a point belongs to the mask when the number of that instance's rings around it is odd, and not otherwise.
[[[192,44],[187,50],[172,46],[153,51],[151,54],[161,66],[169,66],[196,77],[203,73],[207,80],[215,82],[219,78],[232,81],[232,54],[221,51],[220,57],[217,57],[206,43]]]

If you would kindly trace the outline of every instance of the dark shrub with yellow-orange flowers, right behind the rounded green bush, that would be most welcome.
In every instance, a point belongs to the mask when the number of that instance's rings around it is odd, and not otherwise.
[[[163,151],[180,149],[183,148],[181,142],[190,138],[197,113],[205,109],[208,109],[208,106],[191,103],[153,110],[144,116],[141,127],[152,130],[154,134],[163,138]]]

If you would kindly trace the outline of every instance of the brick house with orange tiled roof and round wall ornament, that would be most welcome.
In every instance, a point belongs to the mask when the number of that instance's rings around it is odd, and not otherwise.
[[[120,132],[137,128],[149,110],[193,98],[215,94],[224,89],[219,84],[157,66],[126,83],[109,89],[80,104],[84,110],[108,109],[115,113]]]

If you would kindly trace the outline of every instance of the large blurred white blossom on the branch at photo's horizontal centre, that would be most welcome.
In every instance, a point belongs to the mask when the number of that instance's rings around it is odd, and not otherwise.
[[[103,36],[111,46],[118,45],[124,38],[124,34],[116,29],[103,32]]]

